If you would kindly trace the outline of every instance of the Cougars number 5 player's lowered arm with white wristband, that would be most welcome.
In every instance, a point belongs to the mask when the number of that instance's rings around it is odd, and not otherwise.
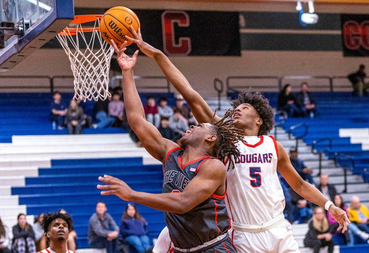
[[[286,179],[287,183],[297,194],[325,209],[327,198],[315,186],[300,177],[299,173],[293,168],[286,150],[279,142],[277,142],[277,149],[279,154],[277,171]],[[332,217],[339,223],[337,231],[343,228],[342,233],[344,233],[347,230],[347,224],[350,223],[346,212],[334,204],[331,204],[328,209]]]

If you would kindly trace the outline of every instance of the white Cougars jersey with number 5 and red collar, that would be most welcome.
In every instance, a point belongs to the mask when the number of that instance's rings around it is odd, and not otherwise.
[[[277,143],[271,136],[246,136],[244,140],[235,144],[241,157],[227,171],[225,203],[232,221],[260,225],[282,214],[285,205],[277,176]]]

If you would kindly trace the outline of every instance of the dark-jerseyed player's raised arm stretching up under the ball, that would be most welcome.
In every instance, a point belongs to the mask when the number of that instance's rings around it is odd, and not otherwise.
[[[113,42],[113,41],[112,41]],[[133,78],[133,67],[136,64],[138,50],[132,58],[125,55],[124,42],[120,49],[113,42],[117,61],[122,69],[124,106],[127,113],[128,123],[137,134],[145,149],[159,161],[163,161],[166,151],[178,147],[177,144],[161,136],[159,130],[145,119],[144,107],[139,98]]]

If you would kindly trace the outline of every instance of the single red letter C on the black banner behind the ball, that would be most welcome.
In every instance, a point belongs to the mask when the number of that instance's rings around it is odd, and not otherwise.
[[[179,37],[175,41],[174,23],[179,27],[188,27],[190,17],[184,11],[164,11],[162,14],[163,48],[167,55],[188,55],[191,52],[191,39]]]

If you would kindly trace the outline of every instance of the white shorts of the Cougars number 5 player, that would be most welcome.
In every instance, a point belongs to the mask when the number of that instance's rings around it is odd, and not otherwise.
[[[249,233],[232,228],[228,232],[238,253],[300,253],[291,224],[286,220],[264,232]]]

